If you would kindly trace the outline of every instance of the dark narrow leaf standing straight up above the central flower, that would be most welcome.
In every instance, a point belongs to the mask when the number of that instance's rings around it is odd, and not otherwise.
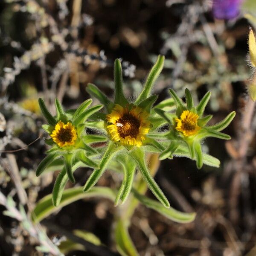
[[[128,103],[123,93],[122,84],[122,66],[119,59],[115,60],[114,63],[114,80],[115,80],[115,104],[124,106]]]

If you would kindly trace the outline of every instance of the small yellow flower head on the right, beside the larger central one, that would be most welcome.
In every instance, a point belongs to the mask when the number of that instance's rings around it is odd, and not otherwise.
[[[180,119],[175,118],[177,122],[176,130],[182,132],[185,137],[197,134],[201,129],[198,126],[198,118],[198,114],[184,110],[180,115]]]

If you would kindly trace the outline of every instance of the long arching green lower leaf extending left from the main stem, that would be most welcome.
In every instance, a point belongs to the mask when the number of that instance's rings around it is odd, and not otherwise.
[[[59,201],[58,207],[55,207],[52,204],[52,194],[49,194],[42,198],[35,206],[34,211],[32,212],[32,220],[34,223],[42,221],[44,218],[47,218],[53,212],[58,212],[62,207],[71,204],[82,198],[91,198],[91,197],[102,197],[108,198],[112,201],[115,200],[116,192],[107,187],[94,187],[87,193],[84,193],[83,187],[74,187],[66,189],[63,192],[63,196]]]

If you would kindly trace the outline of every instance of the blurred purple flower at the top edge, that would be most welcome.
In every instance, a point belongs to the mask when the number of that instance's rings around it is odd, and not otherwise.
[[[216,19],[233,19],[239,15],[241,2],[242,0],[213,0],[213,16]]]

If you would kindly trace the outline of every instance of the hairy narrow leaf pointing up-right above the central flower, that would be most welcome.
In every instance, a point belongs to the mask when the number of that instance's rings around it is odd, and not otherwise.
[[[151,68],[148,74],[143,90],[135,101],[135,105],[138,105],[140,102],[148,98],[154,86],[154,82],[157,80],[158,76],[163,70],[163,64],[164,64],[164,56],[158,55],[156,63]]]

